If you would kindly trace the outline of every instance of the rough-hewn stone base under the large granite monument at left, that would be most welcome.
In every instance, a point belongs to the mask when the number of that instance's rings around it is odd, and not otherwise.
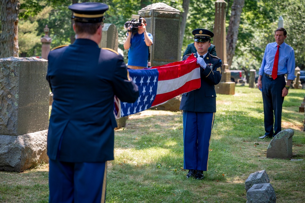
[[[19,136],[0,135],[0,170],[21,172],[48,162],[48,130]]]

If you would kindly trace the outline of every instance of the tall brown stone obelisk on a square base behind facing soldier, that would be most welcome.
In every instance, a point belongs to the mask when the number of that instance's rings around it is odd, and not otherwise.
[[[224,0],[215,2],[213,44],[215,45],[217,56],[222,60],[222,77],[220,83],[215,86],[215,91],[219,94],[233,95],[235,94],[235,82],[231,82],[231,72],[227,63],[226,7],[227,2]]]

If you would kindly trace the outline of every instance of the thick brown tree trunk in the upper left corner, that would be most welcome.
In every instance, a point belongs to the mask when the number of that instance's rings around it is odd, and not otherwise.
[[[19,0],[0,0],[0,58],[19,56],[18,14]]]

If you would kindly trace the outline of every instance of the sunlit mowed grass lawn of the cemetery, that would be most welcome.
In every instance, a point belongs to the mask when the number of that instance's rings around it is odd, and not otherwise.
[[[265,169],[277,203],[305,202],[305,90],[289,89],[282,129],[293,129],[293,159],[266,158],[263,101],[258,89],[237,86],[217,95],[217,112],[204,180],[186,179],[181,112],[146,110],[115,131],[115,160],[108,162],[107,203],[246,202],[245,180]],[[202,103],[204,105],[204,103]],[[22,173],[0,172],[0,202],[48,202],[48,165]]]

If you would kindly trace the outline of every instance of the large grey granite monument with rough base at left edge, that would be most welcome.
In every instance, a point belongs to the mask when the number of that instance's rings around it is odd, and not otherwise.
[[[20,172],[48,161],[47,60],[0,59],[0,170]]]

